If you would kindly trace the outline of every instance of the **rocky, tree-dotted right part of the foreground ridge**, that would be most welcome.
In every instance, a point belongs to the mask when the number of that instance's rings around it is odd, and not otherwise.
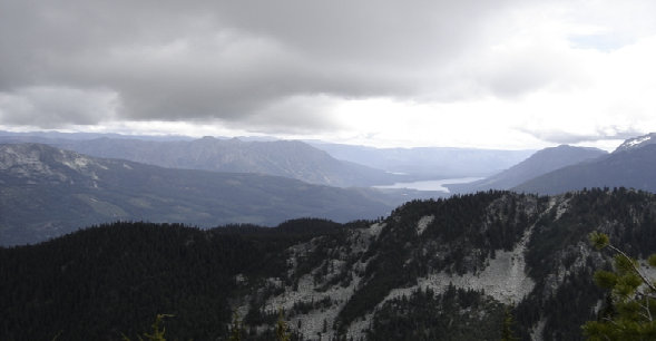
[[[654,244],[629,236],[654,234],[655,210],[653,195],[626,189],[410,203],[384,221],[291,247],[287,273],[236,306],[243,315],[283,309],[307,339],[358,340],[372,334],[390,304],[454,286],[516,306],[523,338],[577,339],[601,305],[591,273],[606,265],[587,234],[604,231],[635,255],[647,254]]]

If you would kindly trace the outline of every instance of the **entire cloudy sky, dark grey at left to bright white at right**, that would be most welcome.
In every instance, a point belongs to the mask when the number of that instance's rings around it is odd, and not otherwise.
[[[0,0],[0,129],[611,150],[656,1]]]

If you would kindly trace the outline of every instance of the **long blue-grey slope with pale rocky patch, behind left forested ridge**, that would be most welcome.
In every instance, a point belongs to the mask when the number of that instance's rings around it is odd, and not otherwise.
[[[39,144],[0,145],[0,244],[35,243],[117,220],[274,225],[313,216],[372,218],[391,208],[373,189],[256,174],[161,168]],[[395,204],[399,204],[396,202]]]

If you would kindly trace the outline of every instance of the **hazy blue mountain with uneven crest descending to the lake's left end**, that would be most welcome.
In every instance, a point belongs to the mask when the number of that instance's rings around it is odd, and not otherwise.
[[[154,142],[98,138],[58,144],[58,147],[108,158],[121,158],[169,168],[284,176],[329,186],[371,186],[400,181],[383,170],[337,160],[307,144],[291,140],[243,142],[204,137]]]

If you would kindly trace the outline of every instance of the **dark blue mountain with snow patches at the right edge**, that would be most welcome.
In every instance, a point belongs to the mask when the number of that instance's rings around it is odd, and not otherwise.
[[[633,187],[656,192],[656,144],[633,138],[608,156],[568,166],[528,181],[516,191],[558,194],[584,187]],[[630,142],[643,143],[630,144]]]

